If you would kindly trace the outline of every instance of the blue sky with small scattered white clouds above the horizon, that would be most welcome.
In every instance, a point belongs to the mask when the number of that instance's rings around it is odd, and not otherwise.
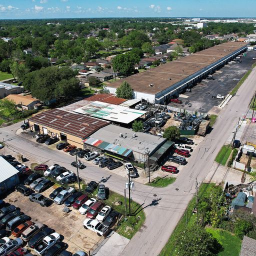
[[[256,0],[0,0],[0,19],[255,17]]]

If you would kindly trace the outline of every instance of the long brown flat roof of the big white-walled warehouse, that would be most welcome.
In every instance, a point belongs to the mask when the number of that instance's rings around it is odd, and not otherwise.
[[[107,87],[117,88],[123,80],[126,80],[134,91],[156,94],[246,44],[244,42],[224,42],[144,72],[133,74],[122,80],[111,82]],[[152,85],[150,86],[150,84]]]

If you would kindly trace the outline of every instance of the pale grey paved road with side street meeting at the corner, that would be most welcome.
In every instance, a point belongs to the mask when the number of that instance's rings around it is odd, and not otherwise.
[[[237,95],[221,110],[211,133],[193,151],[189,163],[184,166],[173,184],[165,188],[152,188],[135,182],[135,190],[132,191],[131,195],[135,201],[143,204],[146,220],[121,255],[155,256],[161,251],[195,192],[195,178],[198,181],[204,180],[217,152],[233,131],[237,118],[246,113],[255,90],[255,80],[256,69],[251,72],[240,87]],[[70,168],[69,163],[73,160],[72,156],[48,149],[44,145],[15,135],[15,130],[19,125],[14,124],[10,127],[1,128],[0,140],[4,139],[9,148],[23,152],[29,159],[33,158],[37,162],[47,162],[49,164],[58,162]],[[87,168],[80,171],[80,175],[87,180],[100,180],[102,176],[108,176],[109,172],[88,164]],[[107,181],[107,186],[113,191],[123,193],[125,181],[124,177],[112,174]],[[159,199],[156,205],[152,203],[155,199]]]

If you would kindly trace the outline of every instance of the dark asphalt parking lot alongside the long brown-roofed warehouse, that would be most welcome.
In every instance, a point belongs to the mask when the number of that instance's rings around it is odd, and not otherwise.
[[[191,87],[191,92],[185,92],[179,96],[181,104],[169,103],[170,106],[207,113],[213,106],[221,103],[221,99],[212,98],[212,95],[226,96],[255,62],[256,51],[247,51],[247,56],[241,57],[241,63],[231,61],[212,75],[215,80],[203,79]]]

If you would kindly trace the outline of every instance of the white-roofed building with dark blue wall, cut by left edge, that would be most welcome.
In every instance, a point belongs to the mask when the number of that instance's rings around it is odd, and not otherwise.
[[[18,170],[0,156],[0,195],[18,183]]]

